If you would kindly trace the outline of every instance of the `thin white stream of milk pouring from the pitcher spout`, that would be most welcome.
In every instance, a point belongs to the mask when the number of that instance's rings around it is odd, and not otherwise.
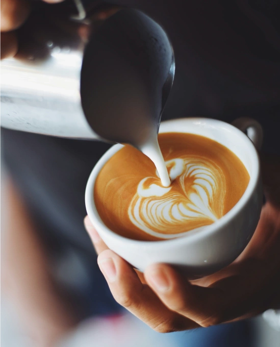
[[[160,150],[157,136],[152,137],[148,141],[146,141],[142,146],[140,146],[140,150],[147,157],[149,157],[150,160],[154,162],[154,164],[156,165],[162,185],[164,187],[169,187],[171,182],[168,175],[166,164],[164,162],[164,159]]]

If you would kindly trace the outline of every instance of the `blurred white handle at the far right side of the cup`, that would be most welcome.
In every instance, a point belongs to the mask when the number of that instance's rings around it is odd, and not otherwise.
[[[260,151],[263,143],[263,128],[257,120],[241,117],[235,119],[232,125],[245,133],[257,150]]]

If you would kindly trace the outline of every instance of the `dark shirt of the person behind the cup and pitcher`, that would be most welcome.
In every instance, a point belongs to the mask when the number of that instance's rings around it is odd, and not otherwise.
[[[280,154],[280,6],[276,1],[125,1],[158,20],[175,52],[162,119],[259,120],[264,151]],[[89,174],[108,144],[2,131],[4,159],[52,259],[71,250],[86,269],[75,288],[86,314],[119,309],[84,229]],[[69,275],[70,276],[70,275]],[[67,281],[66,281],[67,282]]]

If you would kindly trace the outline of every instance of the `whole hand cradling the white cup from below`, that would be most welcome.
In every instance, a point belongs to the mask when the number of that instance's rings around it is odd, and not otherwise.
[[[261,160],[266,203],[243,253],[213,275],[189,282],[167,264],[144,275],[109,250],[88,217],[87,231],[116,301],[158,332],[228,323],[280,307],[280,158]]]

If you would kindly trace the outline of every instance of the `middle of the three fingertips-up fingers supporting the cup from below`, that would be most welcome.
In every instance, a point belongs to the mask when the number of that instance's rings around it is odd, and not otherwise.
[[[97,261],[115,300],[152,329],[171,332],[198,327],[163,305],[149,286],[141,283],[132,266],[111,250],[102,252]]]

